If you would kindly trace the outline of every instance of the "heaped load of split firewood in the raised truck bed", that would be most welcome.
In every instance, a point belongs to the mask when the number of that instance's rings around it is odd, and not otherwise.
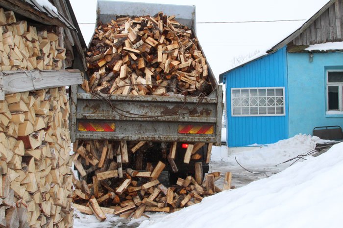
[[[208,66],[188,27],[162,12],[99,22],[88,50],[86,92],[133,95],[210,93]]]

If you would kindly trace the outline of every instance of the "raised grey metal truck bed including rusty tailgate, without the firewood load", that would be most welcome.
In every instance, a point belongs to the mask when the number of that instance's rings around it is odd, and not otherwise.
[[[163,11],[195,30],[195,6],[98,1],[98,21],[117,15]],[[194,33],[195,35],[195,33]],[[200,47],[201,49],[201,47]],[[202,49],[201,49],[202,51]],[[202,51],[204,54],[204,52]],[[206,60],[207,62],[207,60]],[[208,64],[208,62],[207,62]],[[209,66],[209,64],[208,64]],[[89,140],[204,142],[221,145],[222,87],[208,67],[212,92],[206,97],[108,95],[72,88],[71,138]],[[87,128],[110,125],[109,131]],[[91,129],[91,130],[89,130]]]

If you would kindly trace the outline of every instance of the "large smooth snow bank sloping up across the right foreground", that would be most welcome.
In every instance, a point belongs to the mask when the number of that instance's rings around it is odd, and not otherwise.
[[[313,143],[310,137],[304,142]],[[342,227],[342,151],[343,143],[334,145],[268,179],[206,197],[200,204],[144,221],[140,228]]]

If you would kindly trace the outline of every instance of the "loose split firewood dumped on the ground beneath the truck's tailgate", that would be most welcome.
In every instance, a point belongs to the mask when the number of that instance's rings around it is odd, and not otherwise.
[[[155,167],[147,163],[145,170],[123,170],[123,163],[129,167],[128,151],[136,153],[145,143],[127,146],[126,141],[76,142],[72,157],[81,181],[74,182],[73,207],[94,214],[99,221],[106,219],[105,213],[139,218],[145,211],[177,211],[200,203],[205,196],[231,188],[229,172],[225,174],[223,189],[214,184],[221,177],[220,172],[210,173],[202,180],[201,162],[195,164],[195,177],[178,178],[176,185],[168,188],[158,180],[166,166],[161,161]],[[172,153],[175,153],[172,148],[175,147],[171,147],[168,161],[172,161]]]

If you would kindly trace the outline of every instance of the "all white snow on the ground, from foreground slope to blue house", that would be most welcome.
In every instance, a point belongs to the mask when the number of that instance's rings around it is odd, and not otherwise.
[[[309,227],[325,223],[329,225],[325,227],[338,227],[336,225],[343,222],[337,215],[342,212],[339,208],[343,205],[343,180],[338,176],[343,171],[343,153],[339,153],[343,150],[342,143],[291,167],[293,161],[276,166],[322,142],[318,137],[296,135],[275,144],[231,154],[226,146],[214,147],[210,171],[221,171],[221,175],[232,172],[232,186],[237,189],[206,197],[200,204],[180,212],[146,213],[149,219],[106,215],[106,221],[99,223],[94,216],[75,210],[74,227],[227,227],[228,224],[230,227],[304,227],[309,220],[312,224]],[[246,169],[261,174],[245,171],[235,157]],[[216,185],[222,187],[223,178]],[[317,216],[319,211],[320,216]],[[332,215],[323,211],[332,211]]]

